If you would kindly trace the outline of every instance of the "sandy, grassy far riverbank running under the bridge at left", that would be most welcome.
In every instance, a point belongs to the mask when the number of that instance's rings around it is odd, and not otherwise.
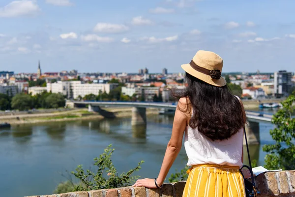
[[[116,117],[131,117],[132,108],[108,108],[107,111],[115,113]],[[147,109],[147,115],[158,114],[158,110]],[[0,116],[1,122],[7,122],[11,125],[76,121],[76,120],[100,120],[104,117],[96,112],[89,112],[87,108],[73,109],[65,112],[43,113],[43,114],[22,114]]]

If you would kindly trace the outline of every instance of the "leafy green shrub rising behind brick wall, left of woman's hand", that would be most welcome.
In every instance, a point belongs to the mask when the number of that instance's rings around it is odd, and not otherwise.
[[[97,167],[96,173],[85,170],[82,165],[78,165],[76,172],[71,173],[79,179],[82,185],[79,185],[76,189],[77,191],[89,191],[89,190],[100,190],[100,189],[111,189],[118,187],[125,187],[131,185],[139,176],[131,176],[135,171],[141,169],[141,161],[137,167],[129,170],[127,173],[123,172],[118,175],[117,169],[115,168],[111,156],[115,149],[112,149],[112,144],[110,144],[102,153],[99,158],[94,158],[94,166]],[[108,177],[108,178],[106,178]]]

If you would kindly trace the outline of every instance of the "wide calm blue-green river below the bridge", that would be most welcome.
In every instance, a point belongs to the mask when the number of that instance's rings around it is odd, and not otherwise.
[[[68,171],[83,164],[89,169],[109,144],[116,149],[113,163],[119,174],[136,167],[144,160],[137,175],[157,176],[167,142],[170,139],[173,116],[148,116],[147,127],[132,127],[130,118],[55,122],[12,126],[0,131],[0,194],[2,197],[24,197],[52,194],[56,186],[68,178]],[[271,124],[260,124],[261,144],[250,147],[251,158],[262,165],[266,153],[262,145],[272,143]],[[245,148],[244,148],[245,150]],[[244,152],[246,157],[246,153]],[[170,174],[186,164],[181,149]]]

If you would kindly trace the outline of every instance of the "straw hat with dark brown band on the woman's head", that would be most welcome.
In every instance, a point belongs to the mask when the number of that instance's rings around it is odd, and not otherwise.
[[[190,75],[213,86],[225,86],[226,80],[221,76],[222,58],[216,53],[200,50],[189,64],[181,65]]]

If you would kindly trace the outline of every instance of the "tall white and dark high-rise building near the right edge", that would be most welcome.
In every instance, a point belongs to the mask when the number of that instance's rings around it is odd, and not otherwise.
[[[288,95],[292,88],[294,73],[280,70],[274,73],[274,94]]]

